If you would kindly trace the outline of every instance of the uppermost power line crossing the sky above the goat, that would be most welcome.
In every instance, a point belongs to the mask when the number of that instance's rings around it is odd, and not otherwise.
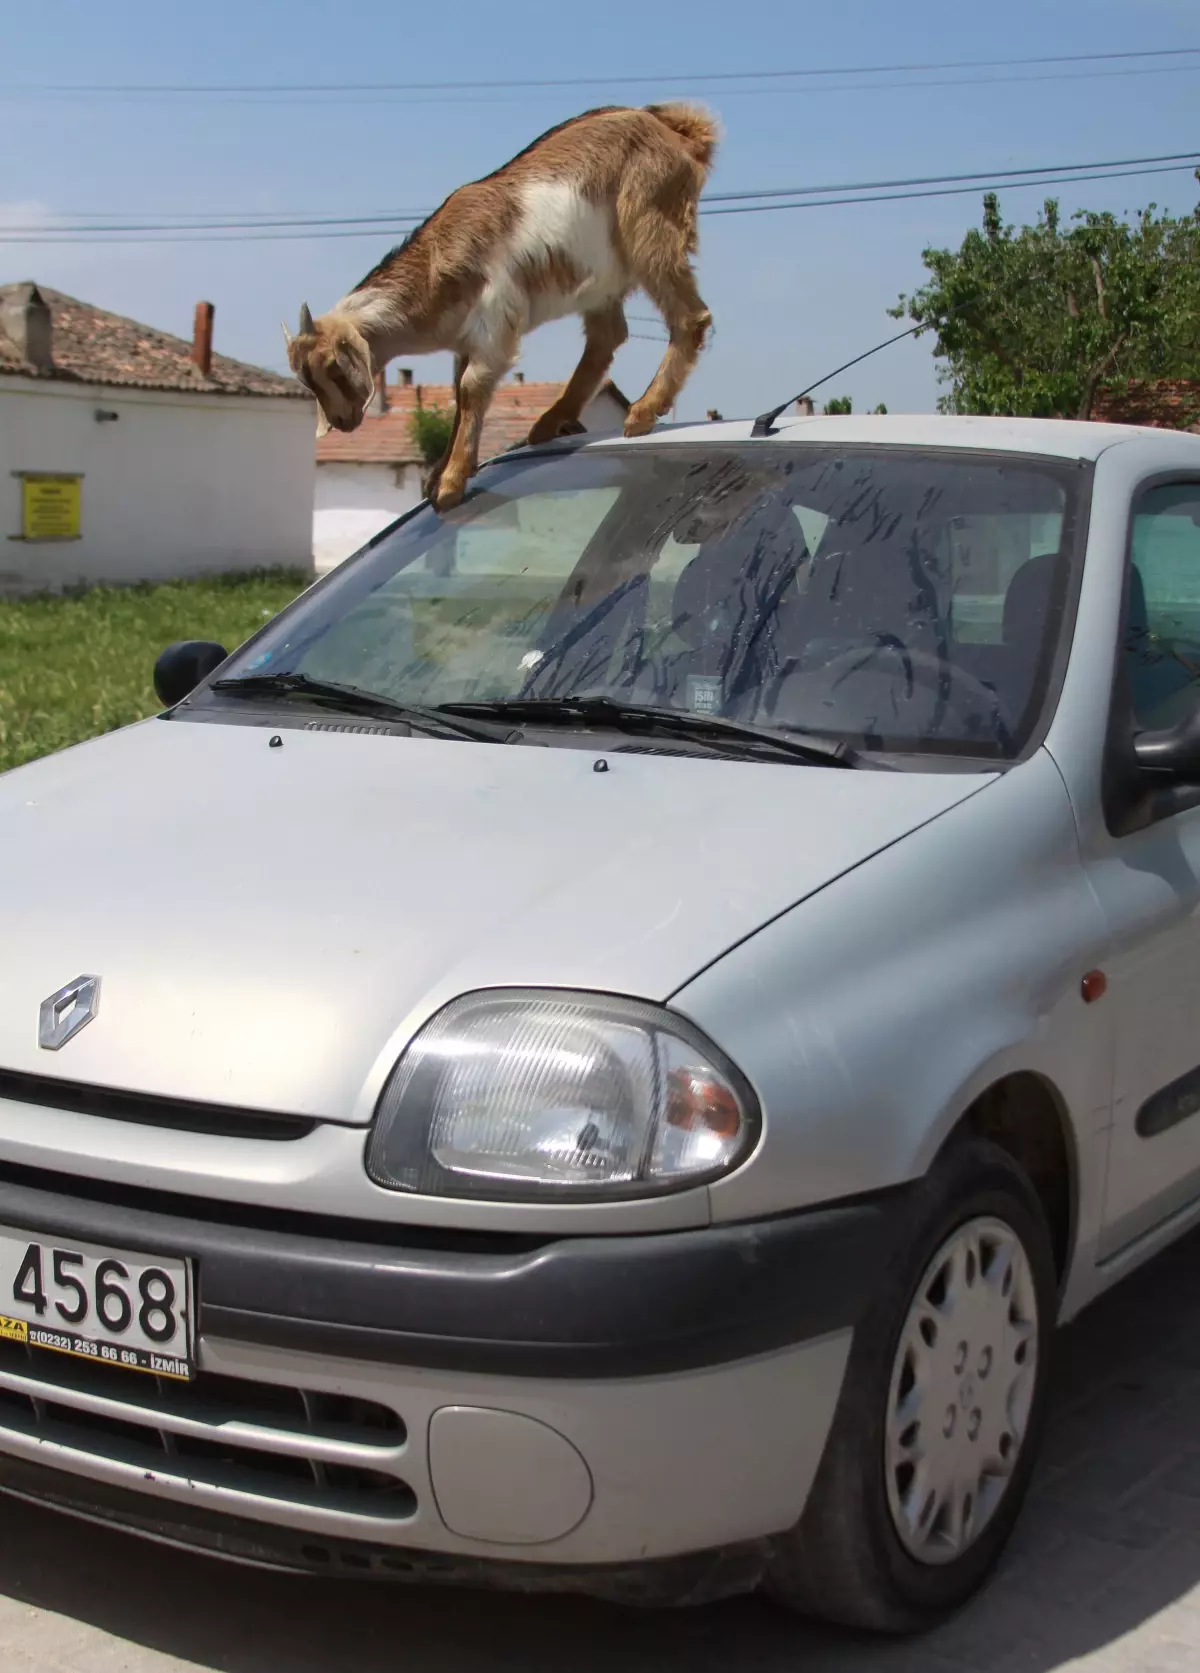
[[[7,94],[169,94],[171,97],[211,97],[229,94],[420,94],[420,92],[485,92],[492,89],[534,87],[654,87],[664,82],[746,82],[746,80],[800,80],[835,75],[899,75],[937,70],[996,70],[1024,69],[1053,64],[1111,64],[1121,60],[1200,57],[1200,47],[1158,47],[1135,52],[1061,52],[1023,59],[949,59],[907,64],[847,64],[798,70],[711,70],[681,75],[552,75],[490,80],[452,82],[32,82],[5,84]]]

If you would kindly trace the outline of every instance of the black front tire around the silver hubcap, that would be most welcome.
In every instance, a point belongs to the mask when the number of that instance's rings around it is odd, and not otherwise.
[[[987,1228],[996,1228],[994,1235]],[[984,1260],[991,1263],[989,1275],[1004,1273],[996,1251],[1011,1251],[1013,1246],[1003,1243],[1001,1228],[1016,1238],[1026,1263],[1021,1268],[1019,1261],[1011,1261],[1016,1278],[1004,1276],[1003,1283],[1013,1283],[1013,1290],[1001,1292],[999,1276],[979,1292],[964,1290],[972,1266],[971,1248],[979,1250],[976,1263],[979,1276]],[[997,1342],[996,1352],[1001,1347],[1004,1352],[1003,1363],[997,1360],[996,1365],[1001,1375],[982,1395],[977,1382],[964,1379],[961,1384],[952,1384],[956,1392],[966,1389],[952,1405],[946,1404],[944,1380],[934,1380],[932,1372],[922,1377],[921,1389],[937,1390],[939,1404],[934,1407],[932,1394],[912,1392],[905,1365],[915,1363],[910,1347],[917,1357],[922,1352],[921,1343],[912,1340],[912,1330],[924,1333],[932,1328],[937,1337],[941,1323],[949,1323],[952,1317],[934,1313],[931,1325],[929,1308],[922,1315],[912,1312],[919,1293],[949,1295],[949,1290],[929,1288],[931,1273],[951,1270],[947,1250],[954,1250],[959,1260],[954,1268],[959,1273],[954,1293],[962,1298],[959,1327],[971,1333],[964,1323],[967,1305],[992,1308],[974,1332],[976,1340],[969,1350],[974,1355],[974,1370],[967,1365],[967,1379],[982,1365],[984,1348],[979,1342],[987,1337],[986,1320],[996,1317],[996,1308],[1003,1312],[1003,1320],[994,1325],[992,1335]],[[934,1283],[942,1282],[942,1278],[934,1280]],[[1001,1293],[1004,1300],[999,1300]],[[1034,1307],[1036,1318],[1031,1318]],[[800,1522],[777,1543],[765,1581],[767,1591],[803,1614],[879,1633],[922,1631],[964,1604],[996,1566],[1029,1487],[1044,1425],[1056,1308],[1058,1278],[1049,1228],[1028,1176],[996,1144],[974,1138],[952,1143],[915,1188],[897,1253],[889,1263],[879,1295],[854,1333],[845,1384],[817,1479]],[[1018,1312],[1023,1323],[1014,1323]],[[1018,1332],[1026,1333],[1024,1347]],[[939,1379],[956,1370],[961,1345],[961,1340],[956,1340],[951,1348],[942,1342]],[[1024,1370],[1006,1369],[1009,1350],[1014,1363]],[[947,1362],[951,1352],[952,1363]],[[934,1363],[932,1350],[931,1360],[921,1363]],[[986,1363],[991,1372],[991,1357]],[[1019,1387],[1019,1397],[1009,1394],[1001,1400],[996,1394],[997,1389],[1008,1387],[1006,1379],[1008,1382],[1016,1379],[1013,1387]],[[912,1440],[912,1429],[905,1429],[902,1440],[914,1447],[921,1444],[932,1457],[936,1471],[949,1469],[952,1476],[957,1471],[956,1481],[962,1479],[962,1471],[972,1469],[971,1464],[956,1461],[979,1456],[962,1450],[967,1440],[974,1445],[979,1437],[982,1414],[974,1405],[976,1399],[981,1405],[987,1402],[979,1444],[987,1445],[989,1457],[1001,1456],[1004,1442],[1009,1444],[1009,1452],[1003,1454],[1009,1459],[1008,1479],[987,1479],[986,1516],[982,1491],[972,1501],[971,1494],[947,1489],[946,1507],[937,1504],[924,1529],[926,1543],[919,1556],[914,1554],[914,1541],[921,1541],[922,1531],[900,1511],[902,1489],[909,1482],[915,1484],[917,1476],[915,1469],[905,1474],[910,1469],[907,1462],[899,1466],[895,1462],[905,1456],[900,1439],[895,1437],[909,1415],[909,1404],[904,1405],[904,1417],[895,1417],[889,1430],[889,1412],[899,1409],[905,1399],[926,1400],[919,1405],[921,1422],[912,1425],[924,1434]],[[1004,1415],[997,1417],[997,1412]],[[992,1452],[996,1424],[1008,1430],[1013,1412],[1019,1414],[1014,1427],[1023,1420],[1023,1430],[1018,1439],[1013,1434],[1001,1434],[999,1450]],[[942,1440],[946,1425],[954,1425],[962,1414],[967,1427],[951,1427],[954,1440]],[[974,1437],[971,1427],[976,1430]],[[924,1481],[921,1487],[909,1487],[909,1502],[921,1504],[922,1516],[929,1507]],[[952,1502],[957,1504],[966,1529],[957,1549],[954,1526],[947,1521],[954,1514],[949,1509]],[[971,1517],[976,1519],[977,1529]],[[902,1524],[907,1536],[900,1534]],[[941,1527],[946,1527],[946,1532],[939,1532]]]

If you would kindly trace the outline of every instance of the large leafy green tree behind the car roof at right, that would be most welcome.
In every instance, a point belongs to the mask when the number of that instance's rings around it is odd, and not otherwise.
[[[929,283],[890,311],[936,331],[942,412],[1090,418],[1106,381],[1200,376],[1200,209],[1063,229],[1048,199],[1018,229],[987,192],[982,228],[922,259]]]

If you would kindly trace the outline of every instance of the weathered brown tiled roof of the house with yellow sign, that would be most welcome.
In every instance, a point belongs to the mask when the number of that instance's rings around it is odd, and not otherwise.
[[[17,284],[0,284],[0,304]],[[124,315],[92,308],[47,284],[37,286],[50,308],[50,355],[47,370],[20,360],[15,343],[0,328],[0,373],[22,378],[59,378],[69,383],[102,383],[139,390],[187,390],[196,395],[276,395],[311,400],[295,378],[281,378],[261,366],[248,366],[228,355],[213,355],[209,376],[191,360],[191,343]]]

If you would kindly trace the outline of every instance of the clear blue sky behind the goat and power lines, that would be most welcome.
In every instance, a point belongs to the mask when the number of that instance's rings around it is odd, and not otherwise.
[[[725,141],[713,191],[1019,169],[1143,157],[1200,146],[1200,57],[1165,74],[1105,65],[844,75],[825,84],[705,82],[735,70],[946,64],[1051,54],[1200,47],[1197,0],[606,0],[603,7],[457,0],[209,0],[204,7],[57,0],[10,7],[0,64],[0,283],[35,278],[117,313],[189,335],[192,304],[216,303],[216,346],[283,365],[279,316],[343,294],[393,243],[367,238],[256,243],[17,243],[5,228],[82,214],[382,214],[427,207],[489,172],[536,134],[592,104],[700,94]],[[1081,74],[1105,72],[1105,74]],[[1016,74],[1038,80],[1014,80]],[[33,94],[97,84],[330,84],[604,77],[567,89],[358,94],[336,100]],[[673,77],[631,85],[623,77]],[[987,77],[989,80],[982,80]],[[1068,80],[1066,77],[1078,77]],[[942,85],[929,85],[932,82]],[[966,85],[962,82],[967,82]],[[914,85],[924,82],[926,85]],[[957,84],[956,84],[957,82]],[[1190,174],[1054,187],[1064,211],[1190,209]],[[1009,219],[1044,191],[1004,191]],[[956,244],[979,194],[706,217],[700,281],[716,333],[679,417],[753,413],[884,338],[885,310],[921,283],[921,251]],[[649,306],[631,308],[649,315]],[[653,333],[653,326],[638,325]],[[529,378],[562,378],[577,325],[526,340]],[[631,341],[614,376],[628,395],[661,350]],[[417,378],[447,361],[418,361]],[[926,341],[904,343],[823,391],[855,408],[931,410]]]

